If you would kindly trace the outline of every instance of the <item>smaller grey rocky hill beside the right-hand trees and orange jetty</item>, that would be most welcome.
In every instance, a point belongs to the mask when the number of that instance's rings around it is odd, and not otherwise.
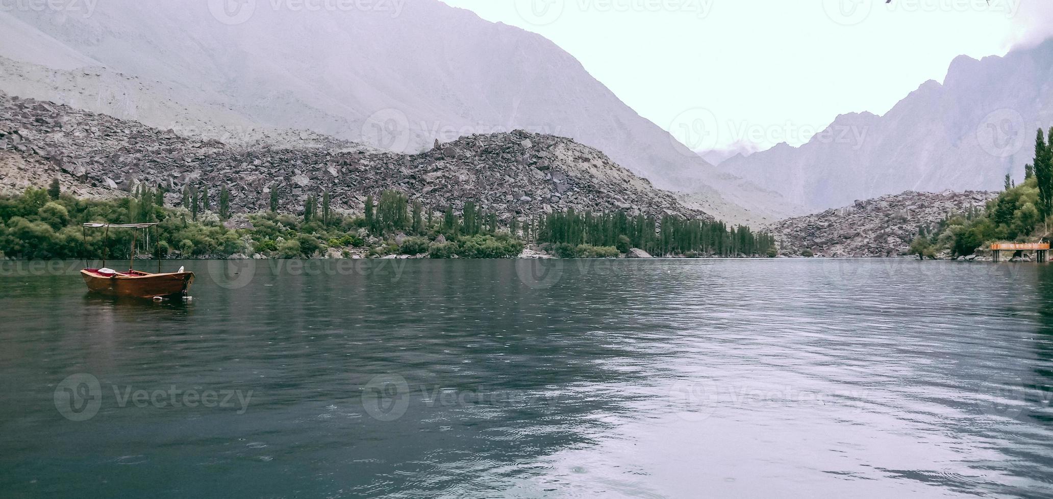
[[[905,254],[919,226],[933,227],[948,214],[984,208],[996,192],[913,192],[856,201],[845,208],[777,222],[781,254],[816,256],[896,256]]]

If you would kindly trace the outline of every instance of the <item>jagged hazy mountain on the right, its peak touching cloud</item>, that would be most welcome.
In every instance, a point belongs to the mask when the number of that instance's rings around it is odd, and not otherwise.
[[[943,83],[923,83],[883,116],[842,115],[800,147],[719,168],[817,210],[905,190],[994,190],[1006,173],[1024,178],[1039,126],[1053,126],[1053,39],[958,57]]]

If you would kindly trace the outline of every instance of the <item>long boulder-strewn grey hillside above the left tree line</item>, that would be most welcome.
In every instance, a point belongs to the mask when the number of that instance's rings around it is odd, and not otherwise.
[[[93,195],[159,184],[176,204],[184,186],[197,185],[216,206],[226,185],[235,211],[266,209],[274,188],[283,209],[299,211],[309,194],[327,190],[333,207],[349,212],[360,212],[367,194],[398,189],[436,209],[475,201],[503,220],[567,208],[709,217],[571,139],[516,130],[436,142],[412,155],[311,142],[236,147],[0,93],[0,185],[8,189],[52,178]]]

